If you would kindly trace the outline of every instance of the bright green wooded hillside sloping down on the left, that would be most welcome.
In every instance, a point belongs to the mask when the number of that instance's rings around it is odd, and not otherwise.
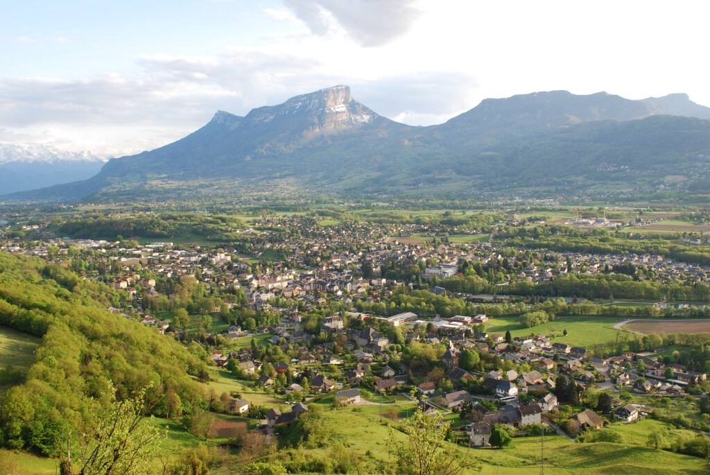
[[[200,359],[174,339],[107,311],[119,295],[61,266],[0,253],[0,325],[42,337],[26,379],[4,394],[0,444],[56,456],[91,415],[116,397],[146,386],[155,415],[189,415],[202,391],[190,376],[208,377]],[[204,351],[204,350],[203,350]]]

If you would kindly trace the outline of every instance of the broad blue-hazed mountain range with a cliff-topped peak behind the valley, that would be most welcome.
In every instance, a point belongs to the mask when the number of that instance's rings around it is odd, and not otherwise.
[[[167,146],[109,160],[92,178],[10,199],[92,200],[298,192],[708,193],[710,108],[685,94],[630,100],[566,91],[485,99],[444,124],[376,114],[336,86],[218,111]]]

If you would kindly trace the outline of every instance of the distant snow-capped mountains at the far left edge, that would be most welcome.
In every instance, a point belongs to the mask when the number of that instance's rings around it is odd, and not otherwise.
[[[107,159],[44,145],[0,144],[0,195],[90,178]]]

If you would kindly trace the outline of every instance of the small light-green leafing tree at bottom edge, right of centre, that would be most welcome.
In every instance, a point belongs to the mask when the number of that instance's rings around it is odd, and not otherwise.
[[[387,447],[395,458],[396,471],[411,475],[458,475],[473,465],[457,452],[446,450],[445,439],[451,422],[443,422],[439,414],[426,415],[417,410],[399,426],[404,440],[390,432]]]

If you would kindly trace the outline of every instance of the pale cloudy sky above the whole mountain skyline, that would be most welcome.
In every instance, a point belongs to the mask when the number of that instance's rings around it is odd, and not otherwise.
[[[337,84],[441,124],[564,89],[710,106],[710,2],[28,0],[0,6],[0,143],[120,156]]]

